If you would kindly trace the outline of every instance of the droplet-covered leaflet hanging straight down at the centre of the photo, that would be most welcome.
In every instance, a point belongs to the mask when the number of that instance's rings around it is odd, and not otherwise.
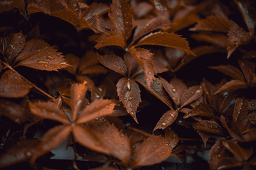
[[[136,111],[139,103],[142,102],[138,84],[133,79],[119,79],[117,82],[117,95],[119,96],[119,101],[124,104],[127,113],[132,115],[132,118],[138,123]]]

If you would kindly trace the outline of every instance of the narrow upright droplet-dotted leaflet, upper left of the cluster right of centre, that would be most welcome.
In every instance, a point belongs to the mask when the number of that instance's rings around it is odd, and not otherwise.
[[[166,81],[165,79],[161,78],[161,83],[164,86],[164,89],[167,91],[167,93],[169,94],[169,96],[171,97],[171,99],[174,101],[176,108],[178,108],[180,106],[180,96],[178,96],[178,94],[176,93],[177,90],[176,88],[172,85],[169,84],[168,81]]]

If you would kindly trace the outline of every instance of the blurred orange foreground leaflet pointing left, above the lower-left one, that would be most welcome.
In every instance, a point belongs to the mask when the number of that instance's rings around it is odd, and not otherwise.
[[[68,116],[60,108],[54,106],[53,103],[38,101],[29,103],[29,107],[34,115],[38,115],[41,118],[57,120],[64,124],[70,123]]]

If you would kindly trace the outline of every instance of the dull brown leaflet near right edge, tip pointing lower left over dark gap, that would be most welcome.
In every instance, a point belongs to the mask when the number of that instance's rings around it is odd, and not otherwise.
[[[240,80],[230,80],[226,84],[220,87],[218,91],[216,91],[214,94],[218,94],[221,91],[236,91],[238,89],[243,89],[247,86],[247,84],[244,81]]]

